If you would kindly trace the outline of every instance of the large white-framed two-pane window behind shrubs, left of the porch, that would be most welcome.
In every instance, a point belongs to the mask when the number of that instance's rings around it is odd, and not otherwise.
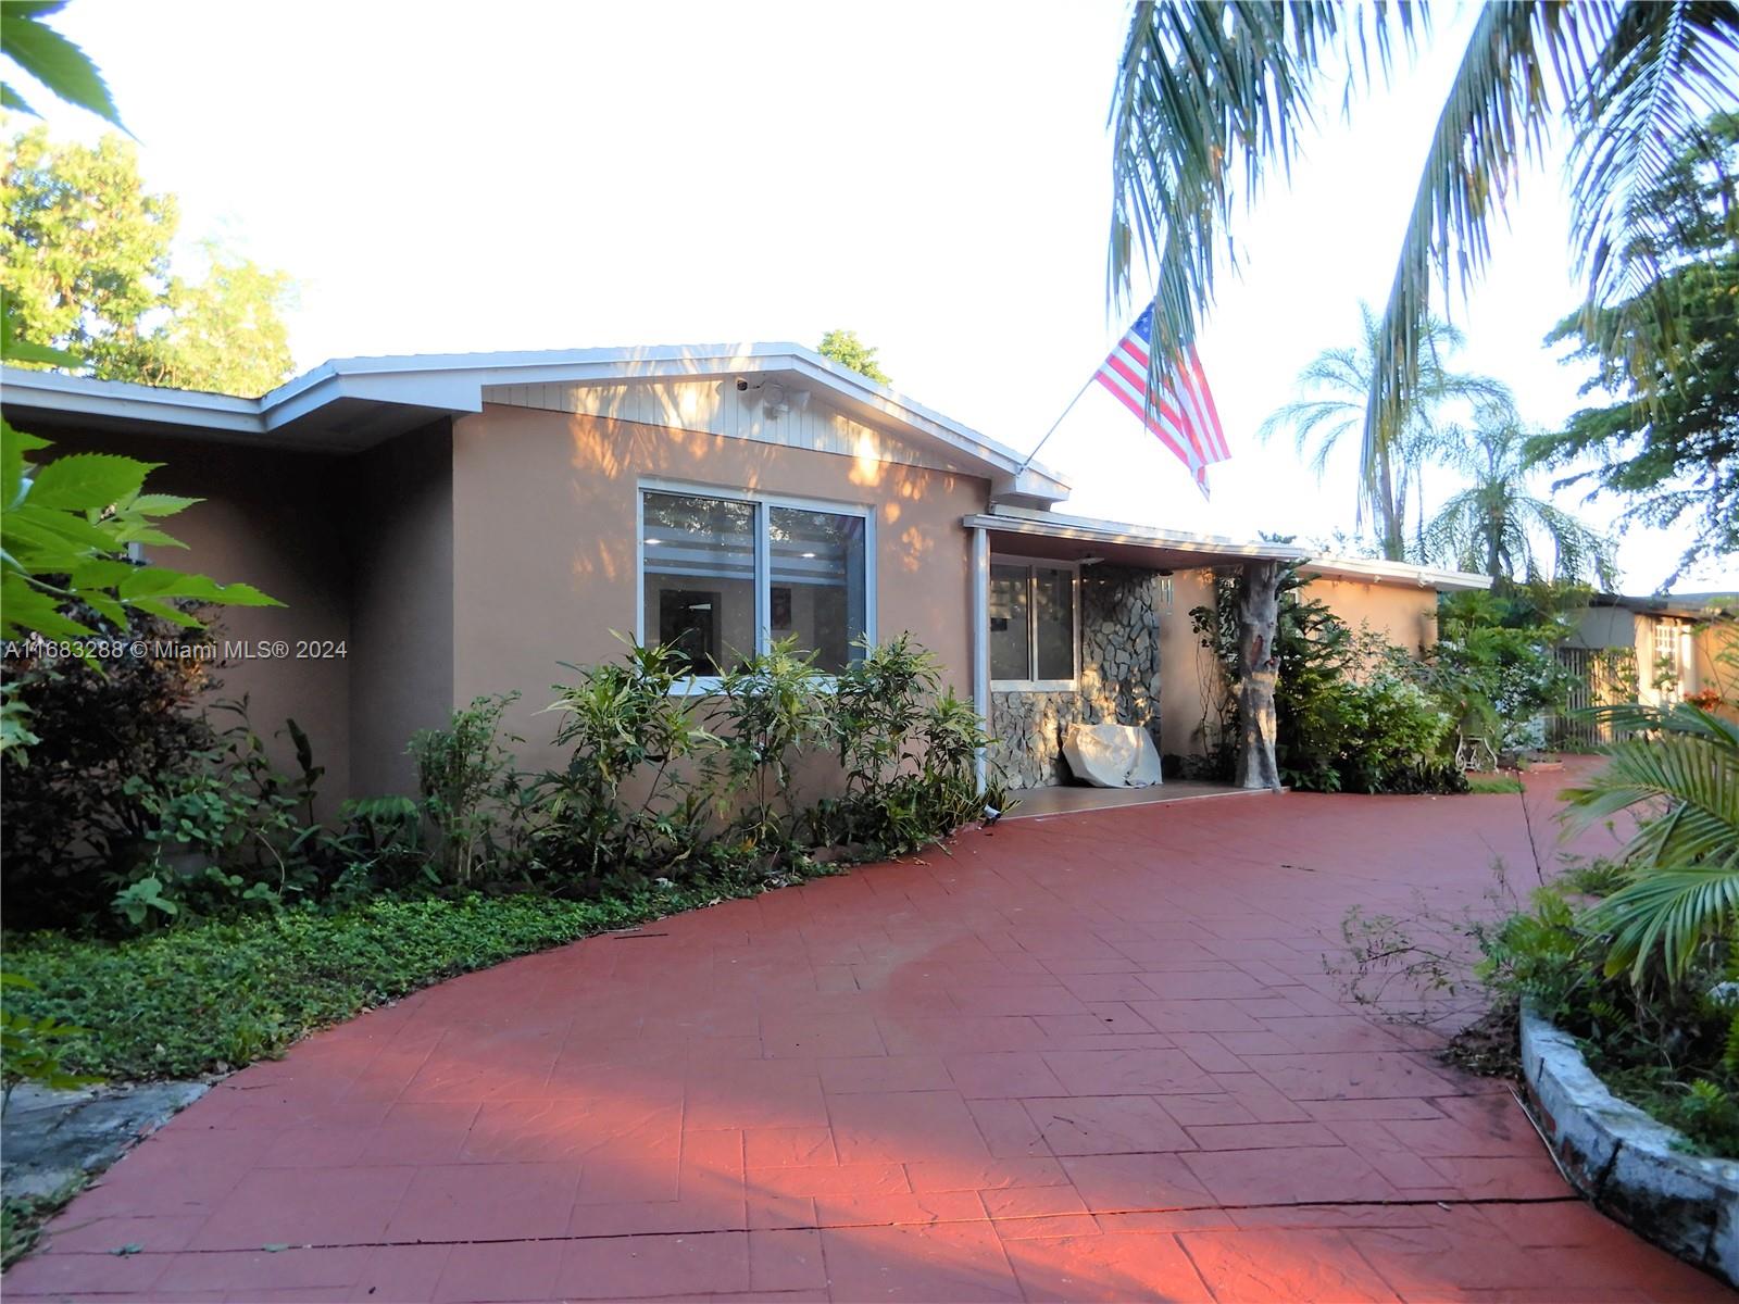
[[[777,499],[643,490],[642,638],[706,678],[796,635],[838,673],[870,633],[868,515]]]

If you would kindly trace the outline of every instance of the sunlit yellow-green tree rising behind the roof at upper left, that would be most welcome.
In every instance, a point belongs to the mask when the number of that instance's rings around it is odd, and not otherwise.
[[[205,245],[200,280],[176,275],[174,196],[139,177],[134,146],[106,134],[61,144],[33,127],[0,172],[0,290],[17,341],[77,353],[111,381],[259,395],[290,374],[282,271]]]

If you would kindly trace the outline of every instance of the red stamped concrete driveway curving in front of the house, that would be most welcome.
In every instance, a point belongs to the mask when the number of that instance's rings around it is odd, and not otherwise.
[[[231,1076],[5,1294],[1727,1299],[1325,977],[1494,857],[1532,882],[1513,796],[1235,796],[520,960]]]

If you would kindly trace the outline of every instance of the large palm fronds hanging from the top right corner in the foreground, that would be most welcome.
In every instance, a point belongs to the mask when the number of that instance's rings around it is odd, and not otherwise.
[[[1344,97],[1386,77],[1393,45],[1414,45],[1423,5],[1339,0],[1195,0],[1136,5],[1111,106],[1109,289],[1127,297],[1137,254],[1155,276],[1149,381],[1193,344],[1223,257],[1236,259],[1233,209],[1278,163],[1290,167],[1325,89]],[[1372,52],[1376,59],[1372,59]],[[1377,330],[1360,436],[1360,494],[1372,516],[1391,499],[1384,450],[1426,383],[1421,348],[1433,280],[1461,292],[1490,256],[1487,223],[1513,200],[1522,162],[1549,132],[1569,137],[1570,257],[1586,276],[1589,327],[1619,339],[1621,304],[1657,311],[1654,250],[1671,247],[1647,196],[1685,148],[1709,167],[1704,118],[1739,83],[1739,0],[1490,0],[1424,150]]]

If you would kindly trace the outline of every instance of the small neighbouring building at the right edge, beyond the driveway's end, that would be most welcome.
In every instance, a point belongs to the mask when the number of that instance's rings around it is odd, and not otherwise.
[[[1603,742],[1609,732],[1574,711],[1616,702],[1671,706],[1687,697],[1720,697],[1732,713],[1739,675],[1739,622],[1716,607],[1682,598],[1596,593],[1558,647],[1576,676],[1570,715],[1556,732],[1565,742]]]

